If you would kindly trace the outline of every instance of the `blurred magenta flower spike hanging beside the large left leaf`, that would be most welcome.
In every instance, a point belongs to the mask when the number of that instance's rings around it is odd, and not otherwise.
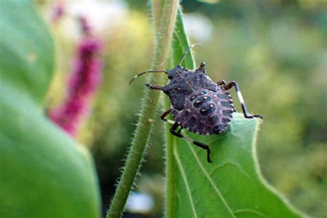
[[[90,108],[90,100],[101,82],[103,66],[99,57],[101,41],[92,36],[86,17],[79,17],[79,23],[83,37],[68,81],[68,97],[62,106],[49,112],[50,119],[73,136]]]

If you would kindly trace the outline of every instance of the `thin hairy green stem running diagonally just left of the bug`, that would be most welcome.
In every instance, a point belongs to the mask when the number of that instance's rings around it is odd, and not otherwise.
[[[161,10],[161,21],[159,34],[157,34],[157,44],[155,48],[155,59],[152,63],[152,70],[164,70],[170,51],[172,34],[174,32],[178,0],[164,1]],[[154,16],[156,17],[156,16]],[[164,81],[164,74],[157,74],[150,77],[150,83],[161,84]],[[128,153],[126,165],[123,169],[121,179],[119,181],[115,196],[112,199],[110,209],[106,217],[120,217],[126,200],[132,189],[137,176],[137,171],[141,166],[146,144],[148,143],[150,131],[152,128],[152,120],[155,116],[155,110],[159,101],[160,92],[146,90],[141,115],[135,132],[135,137],[132,140],[132,146]]]

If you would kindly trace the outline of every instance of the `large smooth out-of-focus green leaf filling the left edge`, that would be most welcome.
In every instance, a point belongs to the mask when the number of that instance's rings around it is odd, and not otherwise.
[[[88,151],[43,115],[52,37],[29,1],[0,1],[0,217],[99,217]]]

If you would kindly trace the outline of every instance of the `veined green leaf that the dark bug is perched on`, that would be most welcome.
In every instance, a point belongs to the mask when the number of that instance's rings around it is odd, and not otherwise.
[[[172,66],[188,47],[181,13],[177,23]],[[183,66],[194,68],[191,55]],[[229,130],[221,135],[182,131],[210,146],[211,164],[206,161],[206,150],[170,135],[171,125],[167,125],[166,217],[301,216],[261,177],[255,150],[259,123],[235,113]]]

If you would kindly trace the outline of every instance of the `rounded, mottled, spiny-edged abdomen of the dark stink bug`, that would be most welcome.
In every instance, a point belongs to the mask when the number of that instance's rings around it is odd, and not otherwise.
[[[217,91],[201,89],[186,95],[184,107],[170,108],[172,116],[183,128],[199,135],[224,132],[235,111],[229,92],[220,86]]]

